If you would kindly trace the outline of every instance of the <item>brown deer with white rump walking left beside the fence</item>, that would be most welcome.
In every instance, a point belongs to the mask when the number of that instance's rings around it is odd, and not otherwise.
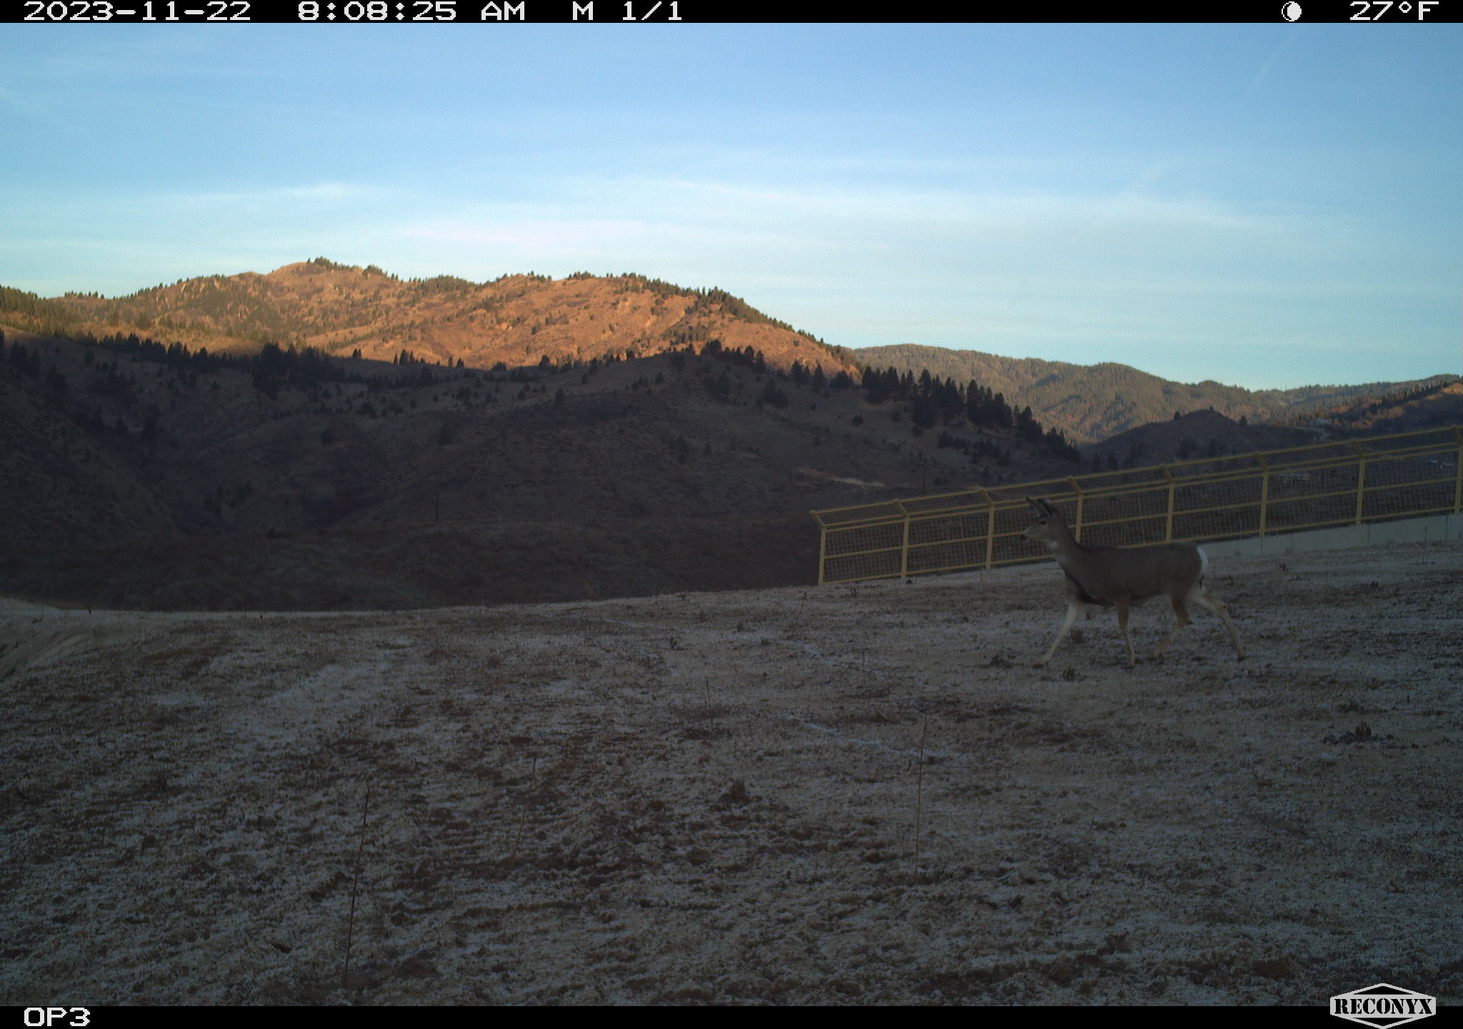
[[[1056,640],[1036,663],[1043,667],[1072,628],[1078,615],[1091,618],[1090,605],[1118,609],[1118,631],[1128,648],[1128,667],[1138,660],[1128,640],[1128,607],[1160,593],[1173,605],[1173,629],[1160,643],[1153,656],[1159,657],[1173,637],[1189,624],[1185,605],[1197,603],[1219,615],[1235,644],[1238,660],[1245,660],[1245,644],[1239,641],[1235,622],[1223,602],[1204,588],[1204,574],[1208,571],[1208,555],[1194,543],[1156,543],[1153,546],[1112,547],[1083,546],[1072,539],[1062,512],[1046,501],[1027,502],[1036,509],[1036,521],[1021,534],[1033,543],[1045,543],[1067,577],[1067,618],[1056,631]]]

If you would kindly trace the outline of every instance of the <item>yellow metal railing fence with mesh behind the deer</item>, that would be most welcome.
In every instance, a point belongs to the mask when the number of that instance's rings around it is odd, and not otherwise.
[[[1213,457],[813,511],[818,581],[1049,558],[1027,496],[1094,546],[1225,540],[1463,511],[1463,427]]]

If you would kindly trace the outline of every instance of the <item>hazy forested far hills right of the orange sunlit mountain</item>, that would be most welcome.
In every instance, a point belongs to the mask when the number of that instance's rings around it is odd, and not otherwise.
[[[1296,422],[1358,400],[1372,401],[1457,382],[1457,376],[1440,375],[1418,382],[1251,391],[1210,381],[1192,385],[1170,382],[1127,364],[1068,364],[914,344],[865,347],[853,354],[862,364],[876,369],[892,366],[916,373],[929,369],[932,375],[955,382],[976,379],[1005,394],[1011,404],[1030,404],[1043,422],[1081,442],[1167,422],[1175,411],[1186,414],[1213,408],[1233,420]]]

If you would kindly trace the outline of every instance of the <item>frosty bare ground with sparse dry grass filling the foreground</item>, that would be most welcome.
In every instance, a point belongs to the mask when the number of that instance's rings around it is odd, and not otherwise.
[[[1110,615],[1030,667],[1053,565],[396,615],[0,602],[0,1000],[1463,1003],[1460,568],[1216,561],[1249,660],[1197,612],[1135,670]]]

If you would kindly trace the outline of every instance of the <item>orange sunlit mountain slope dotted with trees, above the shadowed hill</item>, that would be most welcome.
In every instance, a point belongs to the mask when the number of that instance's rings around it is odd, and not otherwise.
[[[375,265],[325,258],[266,275],[203,275],[108,299],[37,297],[0,288],[0,321],[41,334],[151,335],[211,351],[257,351],[265,343],[326,354],[490,369],[549,362],[645,357],[688,343],[751,347],[780,369],[794,362],[832,375],[847,353],[778,322],[721,290],[688,290],[644,275],[563,280],[452,275],[401,280]]]

